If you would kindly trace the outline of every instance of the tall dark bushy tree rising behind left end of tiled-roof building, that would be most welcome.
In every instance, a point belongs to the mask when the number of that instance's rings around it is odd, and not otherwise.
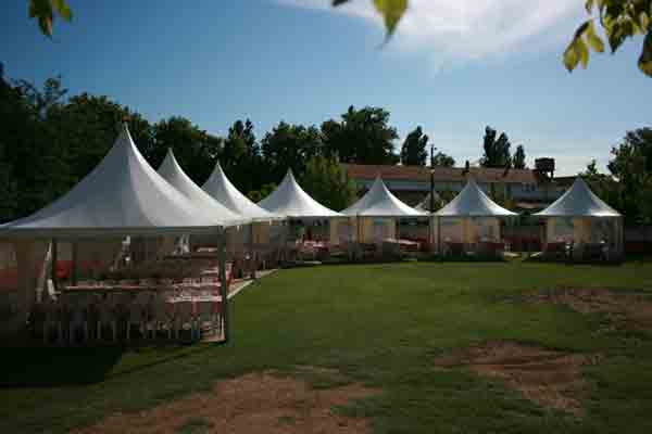
[[[399,138],[389,126],[389,112],[379,107],[356,110],[352,105],[342,120],[322,124],[324,154],[342,163],[397,164],[393,141]]]

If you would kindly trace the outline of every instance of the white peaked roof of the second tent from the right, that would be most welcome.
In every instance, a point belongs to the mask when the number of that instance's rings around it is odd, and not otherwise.
[[[489,199],[472,178],[455,199],[435,215],[438,217],[512,217],[518,214],[503,208]]]

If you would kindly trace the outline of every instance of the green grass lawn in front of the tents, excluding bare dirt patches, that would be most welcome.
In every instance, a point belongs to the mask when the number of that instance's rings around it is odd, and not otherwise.
[[[652,334],[513,295],[562,285],[649,291],[652,266],[425,264],[284,270],[233,303],[233,341],[124,350],[2,349],[0,432],[65,432],[251,371],[336,368],[383,393],[343,411],[378,433],[650,433]],[[485,340],[601,353],[587,368],[585,417],[543,409],[499,381],[434,360]],[[328,386],[328,384],[322,384]]]

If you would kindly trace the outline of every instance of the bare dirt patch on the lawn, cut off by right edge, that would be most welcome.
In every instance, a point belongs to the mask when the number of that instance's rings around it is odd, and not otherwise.
[[[569,288],[526,297],[535,303],[570,307],[580,314],[604,314],[615,326],[652,331],[652,298],[641,293]]]

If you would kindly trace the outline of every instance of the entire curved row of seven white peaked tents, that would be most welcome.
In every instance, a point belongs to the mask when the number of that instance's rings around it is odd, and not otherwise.
[[[377,234],[379,220],[388,221],[383,235],[393,238],[396,219],[430,218],[430,241],[439,244],[442,225],[447,226],[444,222],[449,219],[462,221],[462,241],[468,242],[474,237],[472,222],[481,222],[484,228],[490,228],[490,235],[499,238],[499,219],[515,216],[491,201],[473,180],[435,214],[401,202],[380,178],[358,202],[336,212],[303,191],[291,171],[272,194],[255,204],[230,183],[220,165],[202,188],[184,173],[172,151],[159,171],[154,170],[123,125],[111,151],[87,177],[49,206],[28,217],[0,225],[0,241],[10,241],[14,245],[20,264],[21,259],[29,257],[33,243],[43,239],[212,235],[224,247],[226,229],[230,227],[250,224],[264,227],[284,219],[315,219],[331,222],[331,241],[341,239],[343,231],[338,228],[344,225],[358,228],[355,232],[349,229],[349,240],[362,242]],[[614,228],[612,242],[622,250],[620,215],[597,197],[580,178],[537,216],[548,218],[551,240],[561,227],[572,227],[577,238],[588,242],[595,224],[603,226],[606,221]],[[225,250],[221,247],[221,252]],[[21,288],[28,286],[26,270],[29,268],[23,267],[25,271],[18,275]]]

